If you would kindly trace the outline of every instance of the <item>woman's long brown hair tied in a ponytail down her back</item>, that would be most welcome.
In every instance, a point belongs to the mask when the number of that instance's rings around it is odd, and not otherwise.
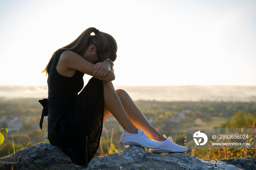
[[[95,35],[91,35],[92,32],[94,32]],[[91,44],[91,42],[97,47],[97,54],[102,58],[102,61],[107,58],[111,59],[112,61],[116,60],[117,43],[113,36],[105,32],[101,32],[94,27],[90,27],[84,30],[82,34],[80,34],[78,38],[76,38],[69,45],[56,50],[42,73],[45,72],[46,75],[48,74],[51,62],[59,53],[59,51],[70,50],[79,55],[82,55],[86,51],[87,47]]]

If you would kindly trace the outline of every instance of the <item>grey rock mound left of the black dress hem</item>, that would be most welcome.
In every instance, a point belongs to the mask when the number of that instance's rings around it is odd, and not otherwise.
[[[102,156],[99,147],[94,157]],[[75,165],[72,160],[60,150],[59,147],[51,144],[39,143],[27,148],[18,150],[12,155],[0,158],[0,169],[27,170],[27,169],[85,169],[84,166]]]

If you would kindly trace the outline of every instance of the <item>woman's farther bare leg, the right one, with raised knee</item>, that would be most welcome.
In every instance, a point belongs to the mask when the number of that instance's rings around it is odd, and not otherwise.
[[[122,89],[118,89],[116,92],[124,106],[125,112],[136,127],[140,127],[150,139],[157,141],[166,140],[166,138],[159,134],[159,132],[148,122],[127,92]]]

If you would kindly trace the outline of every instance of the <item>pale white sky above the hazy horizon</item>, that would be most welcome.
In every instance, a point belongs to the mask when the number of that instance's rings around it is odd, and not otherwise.
[[[0,0],[0,85],[47,85],[88,27],[117,41],[114,85],[256,85],[255,0]]]

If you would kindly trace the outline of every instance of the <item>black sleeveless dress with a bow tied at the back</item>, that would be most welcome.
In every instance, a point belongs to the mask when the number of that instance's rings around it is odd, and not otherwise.
[[[84,73],[76,70],[73,77],[60,75],[56,65],[63,51],[50,63],[48,100],[39,101],[44,106],[40,127],[48,115],[49,142],[60,147],[76,164],[87,166],[99,147],[102,132],[103,84],[93,77],[82,90]]]

